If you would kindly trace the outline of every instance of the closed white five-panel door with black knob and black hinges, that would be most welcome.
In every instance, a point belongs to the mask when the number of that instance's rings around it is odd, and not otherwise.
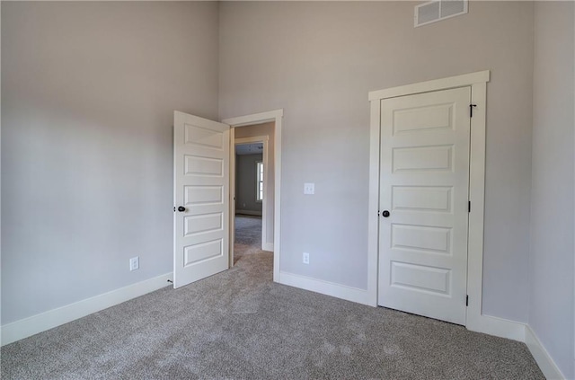
[[[465,324],[471,88],[381,101],[378,304]]]

